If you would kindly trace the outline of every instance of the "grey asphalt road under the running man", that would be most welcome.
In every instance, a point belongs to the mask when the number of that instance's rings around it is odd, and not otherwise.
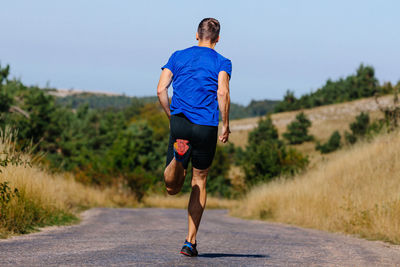
[[[186,211],[92,209],[79,225],[0,241],[0,266],[399,266],[400,247],[206,210],[199,257],[179,254]]]

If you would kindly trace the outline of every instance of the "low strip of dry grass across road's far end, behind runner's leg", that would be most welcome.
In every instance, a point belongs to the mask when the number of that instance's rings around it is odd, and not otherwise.
[[[151,195],[144,197],[142,205],[152,208],[174,208],[186,209],[189,202],[189,195]],[[235,200],[207,197],[207,209],[229,209],[236,205]]]

